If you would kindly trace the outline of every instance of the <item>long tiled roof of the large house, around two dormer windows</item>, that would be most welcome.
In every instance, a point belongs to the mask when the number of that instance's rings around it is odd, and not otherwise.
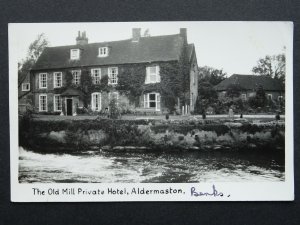
[[[178,60],[182,43],[181,36],[175,34],[141,37],[139,42],[128,39],[48,47],[37,60],[33,70]],[[109,55],[98,57],[99,47],[108,47]],[[80,59],[70,60],[70,49],[78,48],[80,48]]]

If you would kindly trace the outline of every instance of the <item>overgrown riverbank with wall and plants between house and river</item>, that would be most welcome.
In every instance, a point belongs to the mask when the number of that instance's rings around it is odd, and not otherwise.
[[[284,121],[36,120],[20,118],[20,146],[37,152],[242,151],[284,152]]]

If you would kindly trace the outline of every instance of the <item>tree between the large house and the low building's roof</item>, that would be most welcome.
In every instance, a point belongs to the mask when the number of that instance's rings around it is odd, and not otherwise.
[[[199,67],[199,80],[208,81],[212,85],[217,85],[223,81],[226,75],[223,69],[219,70],[208,66]]]

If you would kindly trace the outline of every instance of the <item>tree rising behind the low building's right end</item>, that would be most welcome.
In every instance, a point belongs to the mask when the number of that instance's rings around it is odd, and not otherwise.
[[[257,65],[253,67],[252,72],[257,75],[265,75],[278,79],[285,83],[285,54],[265,56],[258,60]]]

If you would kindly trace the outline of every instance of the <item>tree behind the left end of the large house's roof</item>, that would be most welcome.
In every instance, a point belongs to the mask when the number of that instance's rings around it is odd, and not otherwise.
[[[22,85],[32,66],[36,63],[37,59],[48,46],[48,44],[49,42],[47,41],[45,35],[39,34],[37,39],[29,45],[25,60],[18,63],[18,87]],[[23,98],[28,93],[29,92],[25,92],[24,94],[20,95],[19,99]]]

